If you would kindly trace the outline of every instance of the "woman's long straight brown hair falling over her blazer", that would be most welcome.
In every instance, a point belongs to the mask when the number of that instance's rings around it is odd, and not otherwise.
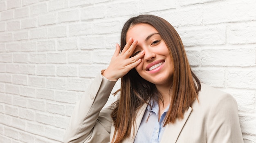
[[[129,28],[140,23],[149,24],[159,32],[173,60],[173,93],[164,126],[173,124],[176,119],[182,119],[184,112],[198,99],[198,92],[201,90],[200,80],[191,71],[180,36],[173,26],[161,17],[139,15],[130,18],[121,32],[121,50],[126,45],[126,33]],[[121,78],[121,89],[117,92],[120,92],[120,98],[112,104],[114,108],[111,113],[115,126],[112,139],[114,143],[120,143],[131,136],[138,108],[147,104],[149,100],[159,100],[155,85],[141,78],[134,68]]]

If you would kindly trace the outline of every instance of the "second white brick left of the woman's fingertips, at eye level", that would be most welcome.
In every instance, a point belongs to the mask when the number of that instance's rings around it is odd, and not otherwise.
[[[91,49],[104,49],[106,44],[104,35],[97,36],[86,36],[80,38],[80,49],[91,50]]]

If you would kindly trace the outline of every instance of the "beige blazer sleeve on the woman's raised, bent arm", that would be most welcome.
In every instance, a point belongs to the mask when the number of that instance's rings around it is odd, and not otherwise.
[[[109,142],[112,110],[103,106],[115,83],[116,81],[110,81],[101,74],[97,75],[74,107],[64,134],[64,143]]]

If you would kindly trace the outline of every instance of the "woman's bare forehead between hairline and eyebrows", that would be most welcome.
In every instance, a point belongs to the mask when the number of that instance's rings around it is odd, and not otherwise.
[[[143,39],[143,38],[145,39],[146,37],[148,37],[148,35],[154,32],[158,33],[158,31],[149,24],[144,24],[144,23],[135,24],[133,26],[130,26],[130,28],[128,29],[126,33],[126,41],[128,41],[130,37],[137,40]]]

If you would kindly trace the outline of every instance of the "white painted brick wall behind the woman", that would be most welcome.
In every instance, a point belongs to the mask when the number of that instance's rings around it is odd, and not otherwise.
[[[195,74],[236,98],[244,141],[256,143],[255,7],[255,0],[0,0],[0,143],[61,143],[75,103],[108,66],[124,22],[139,14],[175,27]]]

